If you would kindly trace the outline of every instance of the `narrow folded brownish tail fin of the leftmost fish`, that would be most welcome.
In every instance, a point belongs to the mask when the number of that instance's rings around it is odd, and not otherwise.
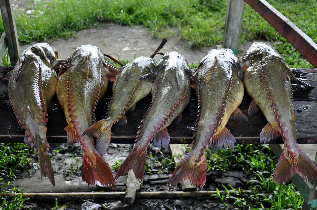
[[[42,176],[48,176],[49,181],[55,186],[55,179],[54,179],[54,170],[52,167],[51,159],[49,158],[49,144],[47,142],[44,145],[37,145],[37,157],[40,166],[40,174]]]

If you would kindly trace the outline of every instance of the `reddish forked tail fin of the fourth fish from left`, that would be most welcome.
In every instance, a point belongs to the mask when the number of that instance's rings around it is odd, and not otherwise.
[[[145,149],[140,149],[139,145],[135,145],[128,157],[120,166],[114,179],[117,180],[121,176],[126,176],[129,170],[132,169],[139,183],[142,183],[145,171],[146,153],[147,147]]]

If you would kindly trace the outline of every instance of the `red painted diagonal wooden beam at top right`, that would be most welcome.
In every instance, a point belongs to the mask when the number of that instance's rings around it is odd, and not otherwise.
[[[314,67],[317,67],[317,44],[265,0],[244,0],[285,37]]]

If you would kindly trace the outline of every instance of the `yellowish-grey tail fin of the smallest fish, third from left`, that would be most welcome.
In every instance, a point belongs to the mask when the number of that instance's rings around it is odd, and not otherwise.
[[[111,127],[113,125],[112,120],[99,120],[95,124],[88,127],[81,136],[91,134],[97,138],[96,150],[103,156],[107,151],[111,140]]]

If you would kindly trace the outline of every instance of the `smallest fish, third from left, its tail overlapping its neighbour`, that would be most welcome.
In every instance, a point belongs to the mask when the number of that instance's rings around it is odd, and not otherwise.
[[[116,75],[113,83],[112,98],[105,119],[96,122],[83,132],[92,134],[97,138],[96,149],[103,155],[110,144],[111,127],[116,123],[126,126],[125,113],[132,112],[136,103],[146,97],[152,90],[153,82],[148,79],[140,79],[155,69],[156,61],[153,59],[167,40],[163,40],[158,49],[150,56],[140,56],[127,64],[120,74]]]

